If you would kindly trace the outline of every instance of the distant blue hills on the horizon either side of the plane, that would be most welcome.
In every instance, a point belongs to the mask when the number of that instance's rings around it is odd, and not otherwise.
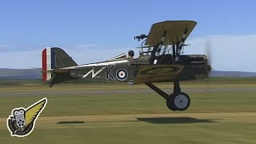
[[[42,79],[41,68],[34,69],[1,69],[0,79]],[[212,70],[210,77],[256,77],[254,72]]]

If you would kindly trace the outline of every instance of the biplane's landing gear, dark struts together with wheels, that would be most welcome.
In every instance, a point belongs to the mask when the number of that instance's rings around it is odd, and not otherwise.
[[[157,92],[166,99],[166,105],[170,110],[186,110],[190,106],[190,97],[181,91],[178,81],[174,81],[174,93],[166,94],[166,92],[160,90],[157,86],[154,86],[152,83],[145,83],[146,86],[149,86],[152,90]]]

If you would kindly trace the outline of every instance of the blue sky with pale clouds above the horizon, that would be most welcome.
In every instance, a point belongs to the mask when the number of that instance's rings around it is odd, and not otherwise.
[[[134,50],[134,35],[154,22],[194,20],[185,54],[205,54],[214,70],[256,72],[256,1],[0,1],[0,68],[41,67],[47,46],[65,50],[78,64]]]

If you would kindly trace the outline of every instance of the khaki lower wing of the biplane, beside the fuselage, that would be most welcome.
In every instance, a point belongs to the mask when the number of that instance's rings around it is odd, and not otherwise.
[[[134,83],[173,81],[183,68],[182,65],[142,66],[134,78]]]

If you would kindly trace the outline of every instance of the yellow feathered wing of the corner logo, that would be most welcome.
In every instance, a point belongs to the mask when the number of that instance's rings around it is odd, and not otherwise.
[[[46,104],[46,98],[43,98],[41,101],[37,102],[33,106],[30,106],[28,110],[26,110],[25,114],[25,122],[26,125],[29,125],[31,122],[37,118],[38,114],[42,111],[42,108]]]

